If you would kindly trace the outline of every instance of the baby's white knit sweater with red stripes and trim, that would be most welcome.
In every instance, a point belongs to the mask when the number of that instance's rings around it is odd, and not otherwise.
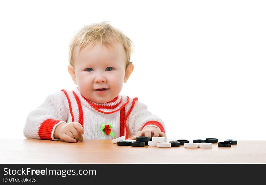
[[[118,95],[107,103],[91,102],[79,89],[62,89],[54,93],[34,111],[30,112],[24,126],[24,136],[34,139],[60,140],[54,138],[54,130],[60,123],[79,122],[86,139],[113,139],[102,132],[102,123],[112,126],[115,138],[134,136],[147,126],[165,132],[164,122],[147,110],[138,98]]]

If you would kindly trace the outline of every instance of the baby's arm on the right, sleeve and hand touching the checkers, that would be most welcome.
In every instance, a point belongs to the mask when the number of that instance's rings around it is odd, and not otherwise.
[[[133,109],[128,116],[129,132],[134,139],[137,136],[166,137],[164,122],[157,115],[148,111],[147,105],[136,100]]]

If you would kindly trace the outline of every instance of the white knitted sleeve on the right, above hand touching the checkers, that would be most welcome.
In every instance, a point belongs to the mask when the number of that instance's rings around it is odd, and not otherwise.
[[[131,107],[133,107],[133,109],[131,110],[127,121],[130,135],[136,135],[138,131],[141,131],[148,126],[159,128],[161,132],[165,133],[165,125],[163,120],[161,120],[161,118],[159,118],[157,115],[153,115],[150,111],[148,111],[147,105],[139,102],[135,98],[132,101]]]

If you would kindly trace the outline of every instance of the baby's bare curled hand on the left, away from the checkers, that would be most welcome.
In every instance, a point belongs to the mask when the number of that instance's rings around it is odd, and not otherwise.
[[[83,140],[81,134],[84,134],[82,125],[78,122],[60,123],[54,130],[54,138],[68,142],[77,142],[79,137]]]

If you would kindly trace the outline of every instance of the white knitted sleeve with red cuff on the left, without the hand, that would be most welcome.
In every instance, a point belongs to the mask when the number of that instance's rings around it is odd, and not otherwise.
[[[28,114],[23,134],[26,138],[60,140],[54,138],[54,130],[60,123],[66,123],[67,109],[62,91],[54,93],[35,110]]]

